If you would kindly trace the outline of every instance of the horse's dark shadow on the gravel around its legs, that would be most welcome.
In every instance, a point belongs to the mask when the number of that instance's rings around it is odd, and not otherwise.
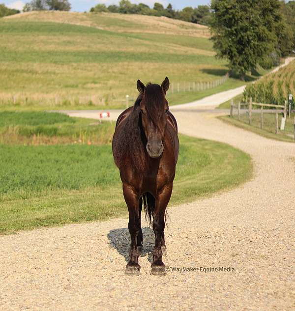
[[[140,257],[148,256],[148,261],[152,262],[152,251],[154,249],[155,235],[151,228],[144,227],[143,230],[143,248],[140,250]],[[129,261],[128,250],[130,247],[130,234],[128,228],[119,228],[111,230],[108,233],[110,244],[118,251],[118,253]]]

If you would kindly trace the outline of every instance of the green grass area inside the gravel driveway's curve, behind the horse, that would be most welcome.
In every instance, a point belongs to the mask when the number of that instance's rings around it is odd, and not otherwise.
[[[7,126],[31,131],[18,132],[14,141],[0,144],[0,234],[127,215],[111,150],[114,123],[97,124],[59,113],[1,116],[2,132]],[[40,126],[42,133],[36,134]],[[85,129],[85,141],[73,138],[80,127]],[[93,133],[100,139],[89,145]],[[234,187],[251,172],[250,157],[242,151],[181,135],[171,205]]]

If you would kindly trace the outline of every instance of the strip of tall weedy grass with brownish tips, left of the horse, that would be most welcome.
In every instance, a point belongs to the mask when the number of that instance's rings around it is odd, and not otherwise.
[[[0,112],[0,143],[105,144],[112,140],[115,122],[73,118],[61,113]]]

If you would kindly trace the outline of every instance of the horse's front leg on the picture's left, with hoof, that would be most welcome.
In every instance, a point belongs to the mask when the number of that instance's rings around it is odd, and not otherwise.
[[[131,237],[131,244],[129,249],[130,260],[126,265],[125,274],[138,276],[140,275],[140,265],[138,264],[138,250],[137,250],[137,235],[140,231],[139,218],[139,196],[134,188],[130,185],[123,184],[123,194],[125,202],[128,206],[129,223],[128,229]]]

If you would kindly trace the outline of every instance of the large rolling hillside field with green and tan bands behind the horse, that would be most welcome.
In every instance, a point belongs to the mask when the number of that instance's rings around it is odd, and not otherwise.
[[[29,12],[0,20],[0,109],[123,108],[136,81],[211,82],[227,73],[207,27],[163,17]],[[241,85],[229,79],[202,94]],[[182,96],[181,96],[182,95]]]

